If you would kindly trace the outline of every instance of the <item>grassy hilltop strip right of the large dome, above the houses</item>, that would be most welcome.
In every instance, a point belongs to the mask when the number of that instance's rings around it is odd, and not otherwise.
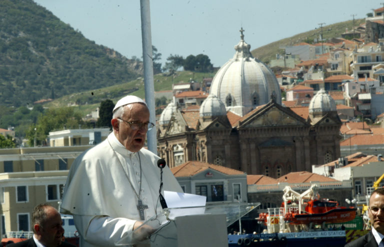
[[[364,23],[365,19],[355,19],[354,26],[357,27],[359,24]],[[343,22],[338,22],[334,24],[325,25],[322,27],[322,33],[324,39],[329,39],[332,37],[341,37],[341,33],[345,32],[345,29],[353,29],[353,20],[347,20]],[[294,29],[292,29],[293,31]],[[320,33],[320,28],[309,30],[307,32],[302,32],[291,37],[283,38],[272,43],[263,45],[261,47],[251,50],[251,53],[254,57],[257,57],[259,60],[268,63],[271,59],[276,58],[276,54],[283,54],[284,49],[282,47],[288,45],[294,45],[299,42],[313,43],[315,37],[318,38]]]

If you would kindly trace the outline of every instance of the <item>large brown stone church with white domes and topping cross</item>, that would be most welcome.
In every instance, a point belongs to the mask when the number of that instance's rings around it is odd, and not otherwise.
[[[271,177],[337,159],[341,121],[333,99],[319,91],[307,119],[281,105],[273,72],[252,57],[240,31],[234,57],[217,71],[200,108],[171,102],[164,109],[158,154],[170,167],[197,160]]]

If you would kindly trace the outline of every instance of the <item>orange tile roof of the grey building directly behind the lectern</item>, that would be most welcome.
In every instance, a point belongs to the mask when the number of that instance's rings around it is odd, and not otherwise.
[[[204,170],[207,170],[208,168],[219,171],[227,175],[245,174],[240,170],[235,170],[225,166],[215,165],[215,164],[210,164],[210,163],[200,162],[200,161],[188,161],[176,167],[170,168],[170,170],[172,171],[175,177],[182,177],[182,176],[193,176],[195,174],[203,172]]]

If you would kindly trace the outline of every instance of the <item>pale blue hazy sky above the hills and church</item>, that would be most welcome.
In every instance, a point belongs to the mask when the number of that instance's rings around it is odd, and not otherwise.
[[[140,0],[34,0],[88,39],[127,58],[142,56]],[[152,44],[162,54],[203,53],[214,66],[234,54],[242,26],[251,49],[324,26],[363,18],[382,0],[152,0]]]

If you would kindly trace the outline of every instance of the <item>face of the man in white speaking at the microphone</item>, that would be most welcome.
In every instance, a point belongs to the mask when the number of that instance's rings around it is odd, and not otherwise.
[[[147,123],[149,121],[149,110],[144,104],[132,103],[130,109],[125,107],[121,119],[124,121],[116,118],[112,119],[116,138],[126,149],[131,152],[137,152],[144,146],[147,130],[144,126],[132,129],[132,126],[125,121]]]

